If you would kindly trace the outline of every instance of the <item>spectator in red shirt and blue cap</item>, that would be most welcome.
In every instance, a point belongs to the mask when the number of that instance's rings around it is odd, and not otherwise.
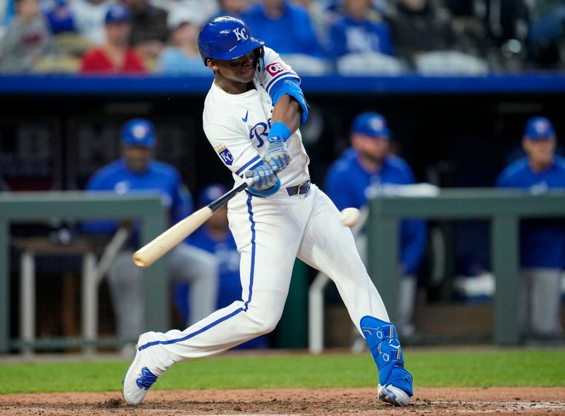
[[[115,3],[105,17],[106,42],[86,52],[81,73],[146,72],[143,59],[129,45],[131,14],[126,6]]]

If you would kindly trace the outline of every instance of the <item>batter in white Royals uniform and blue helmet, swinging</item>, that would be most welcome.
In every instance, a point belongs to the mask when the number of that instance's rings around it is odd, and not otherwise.
[[[273,331],[298,257],[338,287],[375,359],[379,399],[407,405],[412,376],[404,368],[396,328],[338,208],[309,179],[298,129],[307,120],[308,105],[299,76],[237,18],[210,20],[198,47],[214,71],[203,114],[208,141],[232,172],[234,187],[253,181],[227,206],[241,253],[242,297],[184,331],[141,334],[123,381],[126,402],[141,403],[157,377],[178,362]]]

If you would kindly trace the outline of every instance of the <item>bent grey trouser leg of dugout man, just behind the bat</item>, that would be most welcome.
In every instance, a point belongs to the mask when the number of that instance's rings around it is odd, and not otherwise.
[[[213,254],[189,244],[179,244],[169,254],[169,275],[190,283],[189,326],[216,310],[218,266]]]

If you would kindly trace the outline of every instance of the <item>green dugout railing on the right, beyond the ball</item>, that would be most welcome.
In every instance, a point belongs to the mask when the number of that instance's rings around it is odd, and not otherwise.
[[[367,219],[367,268],[389,316],[398,316],[399,222],[488,220],[492,272],[496,279],[492,337],[498,345],[520,342],[518,271],[519,222],[523,218],[565,218],[565,191],[528,194],[502,189],[441,189],[436,196],[402,196],[391,191],[371,198]],[[326,279],[310,287],[309,350],[323,351],[323,289]]]

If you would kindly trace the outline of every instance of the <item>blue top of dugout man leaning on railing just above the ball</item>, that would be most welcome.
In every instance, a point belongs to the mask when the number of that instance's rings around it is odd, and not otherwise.
[[[414,184],[408,164],[398,156],[388,156],[379,172],[367,172],[359,164],[352,148],[333,162],[326,177],[326,193],[339,210],[361,208],[367,204],[367,194],[374,186],[384,184]],[[405,219],[400,222],[400,261],[405,274],[414,274],[420,266],[426,245],[426,222]]]

